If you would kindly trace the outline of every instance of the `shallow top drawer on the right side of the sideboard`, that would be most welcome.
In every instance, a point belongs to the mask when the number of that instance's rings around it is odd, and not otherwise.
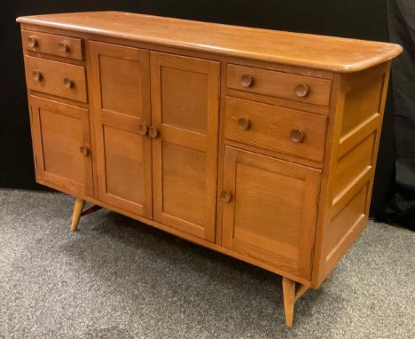
[[[262,68],[228,65],[228,88],[329,106],[332,81]]]

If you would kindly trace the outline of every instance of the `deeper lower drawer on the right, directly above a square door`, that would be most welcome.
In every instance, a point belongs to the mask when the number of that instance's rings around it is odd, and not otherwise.
[[[245,99],[226,98],[224,137],[323,162],[327,117]]]

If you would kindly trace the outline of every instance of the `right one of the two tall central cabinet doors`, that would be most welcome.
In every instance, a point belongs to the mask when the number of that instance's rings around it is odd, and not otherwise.
[[[154,219],[215,240],[219,63],[151,53]]]

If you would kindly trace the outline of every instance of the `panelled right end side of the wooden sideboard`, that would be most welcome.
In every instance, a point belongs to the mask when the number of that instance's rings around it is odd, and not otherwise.
[[[312,284],[318,287],[367,225],[389,63],[338,75],[333,144],[317,224]]]

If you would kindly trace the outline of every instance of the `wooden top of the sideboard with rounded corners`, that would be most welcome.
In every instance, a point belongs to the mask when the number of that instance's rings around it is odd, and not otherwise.
[[[356,72],[392,59],[403,51],[400,45],[394,43],[245,28],[129,12],[34,15],[20,17],[17,21],[335,72]]]

